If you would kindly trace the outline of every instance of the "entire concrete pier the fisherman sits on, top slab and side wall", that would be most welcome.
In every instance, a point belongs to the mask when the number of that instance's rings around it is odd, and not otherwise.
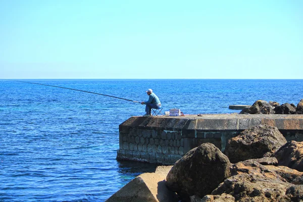
[[[224,151],[229,138],[259,124],[276,126],[287,141],[303,141],[303,115],[131,117],[119,126],[117,159],[172,165],[204,142]]]

